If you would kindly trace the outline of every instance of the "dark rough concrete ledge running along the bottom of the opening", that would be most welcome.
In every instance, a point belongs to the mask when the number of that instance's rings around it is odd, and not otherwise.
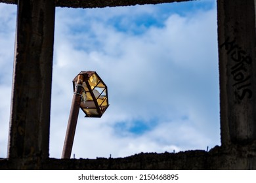
[[[255,144],[249,146],[216,146],[209,152],[192,150],[173,153],[141,153],[127,158],[97,158],[97,159],[45,159],[37,169],[60,170],[217,170],[217,169],[255,169]],[[37,159],[0,159],[0,169],[35,169],[32,165]]]

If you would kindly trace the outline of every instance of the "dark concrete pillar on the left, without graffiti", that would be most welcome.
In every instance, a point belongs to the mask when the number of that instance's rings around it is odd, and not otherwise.
[[[20,0],[9,158],[48,158],[54,41],[53,0]]]

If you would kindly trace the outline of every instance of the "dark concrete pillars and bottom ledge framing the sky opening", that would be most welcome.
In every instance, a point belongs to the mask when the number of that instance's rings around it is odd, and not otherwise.
[[[116,159],[49,158],[55,5],[18,1],[9,158],[0,169],[256,169],[255,1],[217,1],[221,147]]]

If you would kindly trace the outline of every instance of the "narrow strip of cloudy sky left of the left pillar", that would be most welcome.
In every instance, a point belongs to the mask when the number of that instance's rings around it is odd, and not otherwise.
[[[0,157],[7,157],[16,6],[0,5]]]

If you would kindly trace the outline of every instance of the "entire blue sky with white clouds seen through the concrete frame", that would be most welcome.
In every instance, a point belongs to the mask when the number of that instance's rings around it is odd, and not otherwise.
[[[0,4],[0,158],[7,157],[15,24],[16,6]],[[215,0],[56,8],[51,158],[62,154],[72,80],[89,70],[107,84],[110,107],[102,118],[80,110],[75,158],[220,144]]]

